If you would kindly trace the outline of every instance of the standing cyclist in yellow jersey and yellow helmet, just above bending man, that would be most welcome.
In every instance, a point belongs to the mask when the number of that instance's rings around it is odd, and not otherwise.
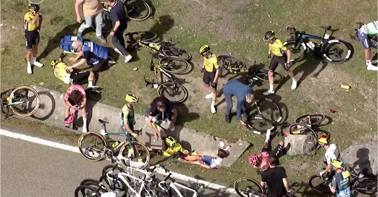
[[[217,56],[210,52],[209,45],[203,45],[200,48],[200,54],[203,57],[201,72],[203,73],[203,85],[210,89],[210,94],[206,95],[206,99],[212,99],[210,110],[215,113],[215,99],[217,98],[217,84],[219,77],[219,65]]]

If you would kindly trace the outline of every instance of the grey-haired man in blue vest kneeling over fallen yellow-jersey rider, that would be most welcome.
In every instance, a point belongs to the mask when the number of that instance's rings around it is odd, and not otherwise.
[[[66,70],[76,68],[87,62],[88,65],[93,66],[93,72],[98,73],[109,68],[115,61],[109,60],[108,49],[99,44],[80,40],[75,40],[72,42],[72,47],[77,50],[76,58],[70,58],[70,61],[76,62],[81,58],[79,62],[73,64],[72,66],[67,66]]]

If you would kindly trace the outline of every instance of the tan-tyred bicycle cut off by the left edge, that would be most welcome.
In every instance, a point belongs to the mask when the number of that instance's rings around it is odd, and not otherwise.
[[[21,86],[0,93],[0,107],[3,118],[9,117],[9,108],[21,117],[36,113],[40,105],[38,92],[28,86]]]

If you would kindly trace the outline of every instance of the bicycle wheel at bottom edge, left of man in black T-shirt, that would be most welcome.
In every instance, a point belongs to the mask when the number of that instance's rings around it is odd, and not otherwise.
[[[234,182],[234,190],[240,197],[250,197],[250,194],[264,196],[265,191],[256,180],[240,178]],[[253,196],[254,196],[253,195]]]

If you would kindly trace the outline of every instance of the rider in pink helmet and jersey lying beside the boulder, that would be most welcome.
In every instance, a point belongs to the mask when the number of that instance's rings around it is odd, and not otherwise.
[[[283,145],[285,144],[282,140],[278,143],[276,148],[274,148],[273,151],[271,151],[271,154],[268,152],[268,147],[269,147],[269,141],[270,141],[270,133],[271,130],[268,129],[266,130],[266,137],[265,137],[265,142],[263,145],[263,148],[261,149],[261,152],[259,155],[257,154],[251,154],[249,155],[248,162],[251,166],[254,168],[257,168],[259,170],[266,170],[269,168],[269,156],[275,156],[279,157],[280,153],[284,150]]]

